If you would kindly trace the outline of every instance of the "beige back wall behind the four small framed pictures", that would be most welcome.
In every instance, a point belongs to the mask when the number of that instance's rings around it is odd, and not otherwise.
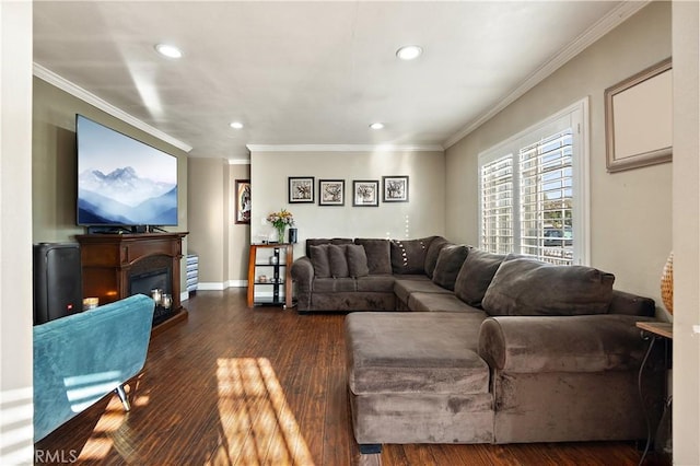
[[[287,209],[294,214],[299,243],[294,256],[303,255],[310,237],[422,237],[445,231],[442,152],[256,152],[250,153],[253,215],[250,240],[271,235],[268,213]],[[352,180],[408,175],[409,202],[380,207],[353,207]],[[288,202],[288,177],[315,177],[314,203]],[[318,206],[318,179],[345,179],[345,206]]]

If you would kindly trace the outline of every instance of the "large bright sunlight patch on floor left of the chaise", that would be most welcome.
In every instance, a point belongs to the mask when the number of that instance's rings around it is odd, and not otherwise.
[[[314,464],[269,360],[219,359],[217,378],[224,439],[207,464],[220,464],[222,450],[228,464]]]

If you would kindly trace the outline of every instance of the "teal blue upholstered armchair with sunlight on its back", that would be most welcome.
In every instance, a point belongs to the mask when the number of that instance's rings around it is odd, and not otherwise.
[[[137,294],[34,327],[34,441],[116,391],[145,362],[153,300]]]

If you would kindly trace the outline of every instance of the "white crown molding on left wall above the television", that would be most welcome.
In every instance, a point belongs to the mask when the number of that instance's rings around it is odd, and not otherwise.
[[[112,105],[110,103],[108,103],[107,101],[104,101],[100,97],[97,97],[95,94],[85,91],[84,89],[82,89],[81,86],[73,84],[72,82],[68,81],[67,79],[60,77],[59,74],[56,74],[54,71],[48,70],[46,68],[44,68],[43,66],[38,65],[38,63],[34,63],[34,75],[48,82],[49,84],[55,85],[56,88],[60,89],[61,91],[65,91],[67,93],[69,93],[70,95],[80,98],[81,101],[93,105],[97,108],[100,108],[101,110],[112,115],[115,118],[119,118],[122,121],[128,123],[129,125],[139,128],[140,130],[148,132],[149,135],[167,142],[168,144],[175,145],[176,148],[185,151],[185,152],[189,152],[192,150],[192,147],[180,141],[179,139],[175,139],[170,135],[166,135],[165,132],[161,131],[160,129],[153,128],[151,125],[148,125],[143,121],[141,121],[140,119],[138,119],[137,117],[129,115],[128,113],[124,112],[120,108],[115,107],[114,105]]]

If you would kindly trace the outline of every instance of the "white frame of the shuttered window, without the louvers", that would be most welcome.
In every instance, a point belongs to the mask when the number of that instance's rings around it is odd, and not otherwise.
[[[521,202],[520,202],[520,150],[541,139],[572,129],[573,170],[573,265],[591,264],[591,195],[590,195],[590,148],[588,148],[588,97],[583,98],[544,120],[526,128],[506,140],[482,151],[478,155],[478,217],[479,246],[483,245],[483,179],[482,167],[495,160],[511,156],[513,167],[513,252],[521,248]]]

